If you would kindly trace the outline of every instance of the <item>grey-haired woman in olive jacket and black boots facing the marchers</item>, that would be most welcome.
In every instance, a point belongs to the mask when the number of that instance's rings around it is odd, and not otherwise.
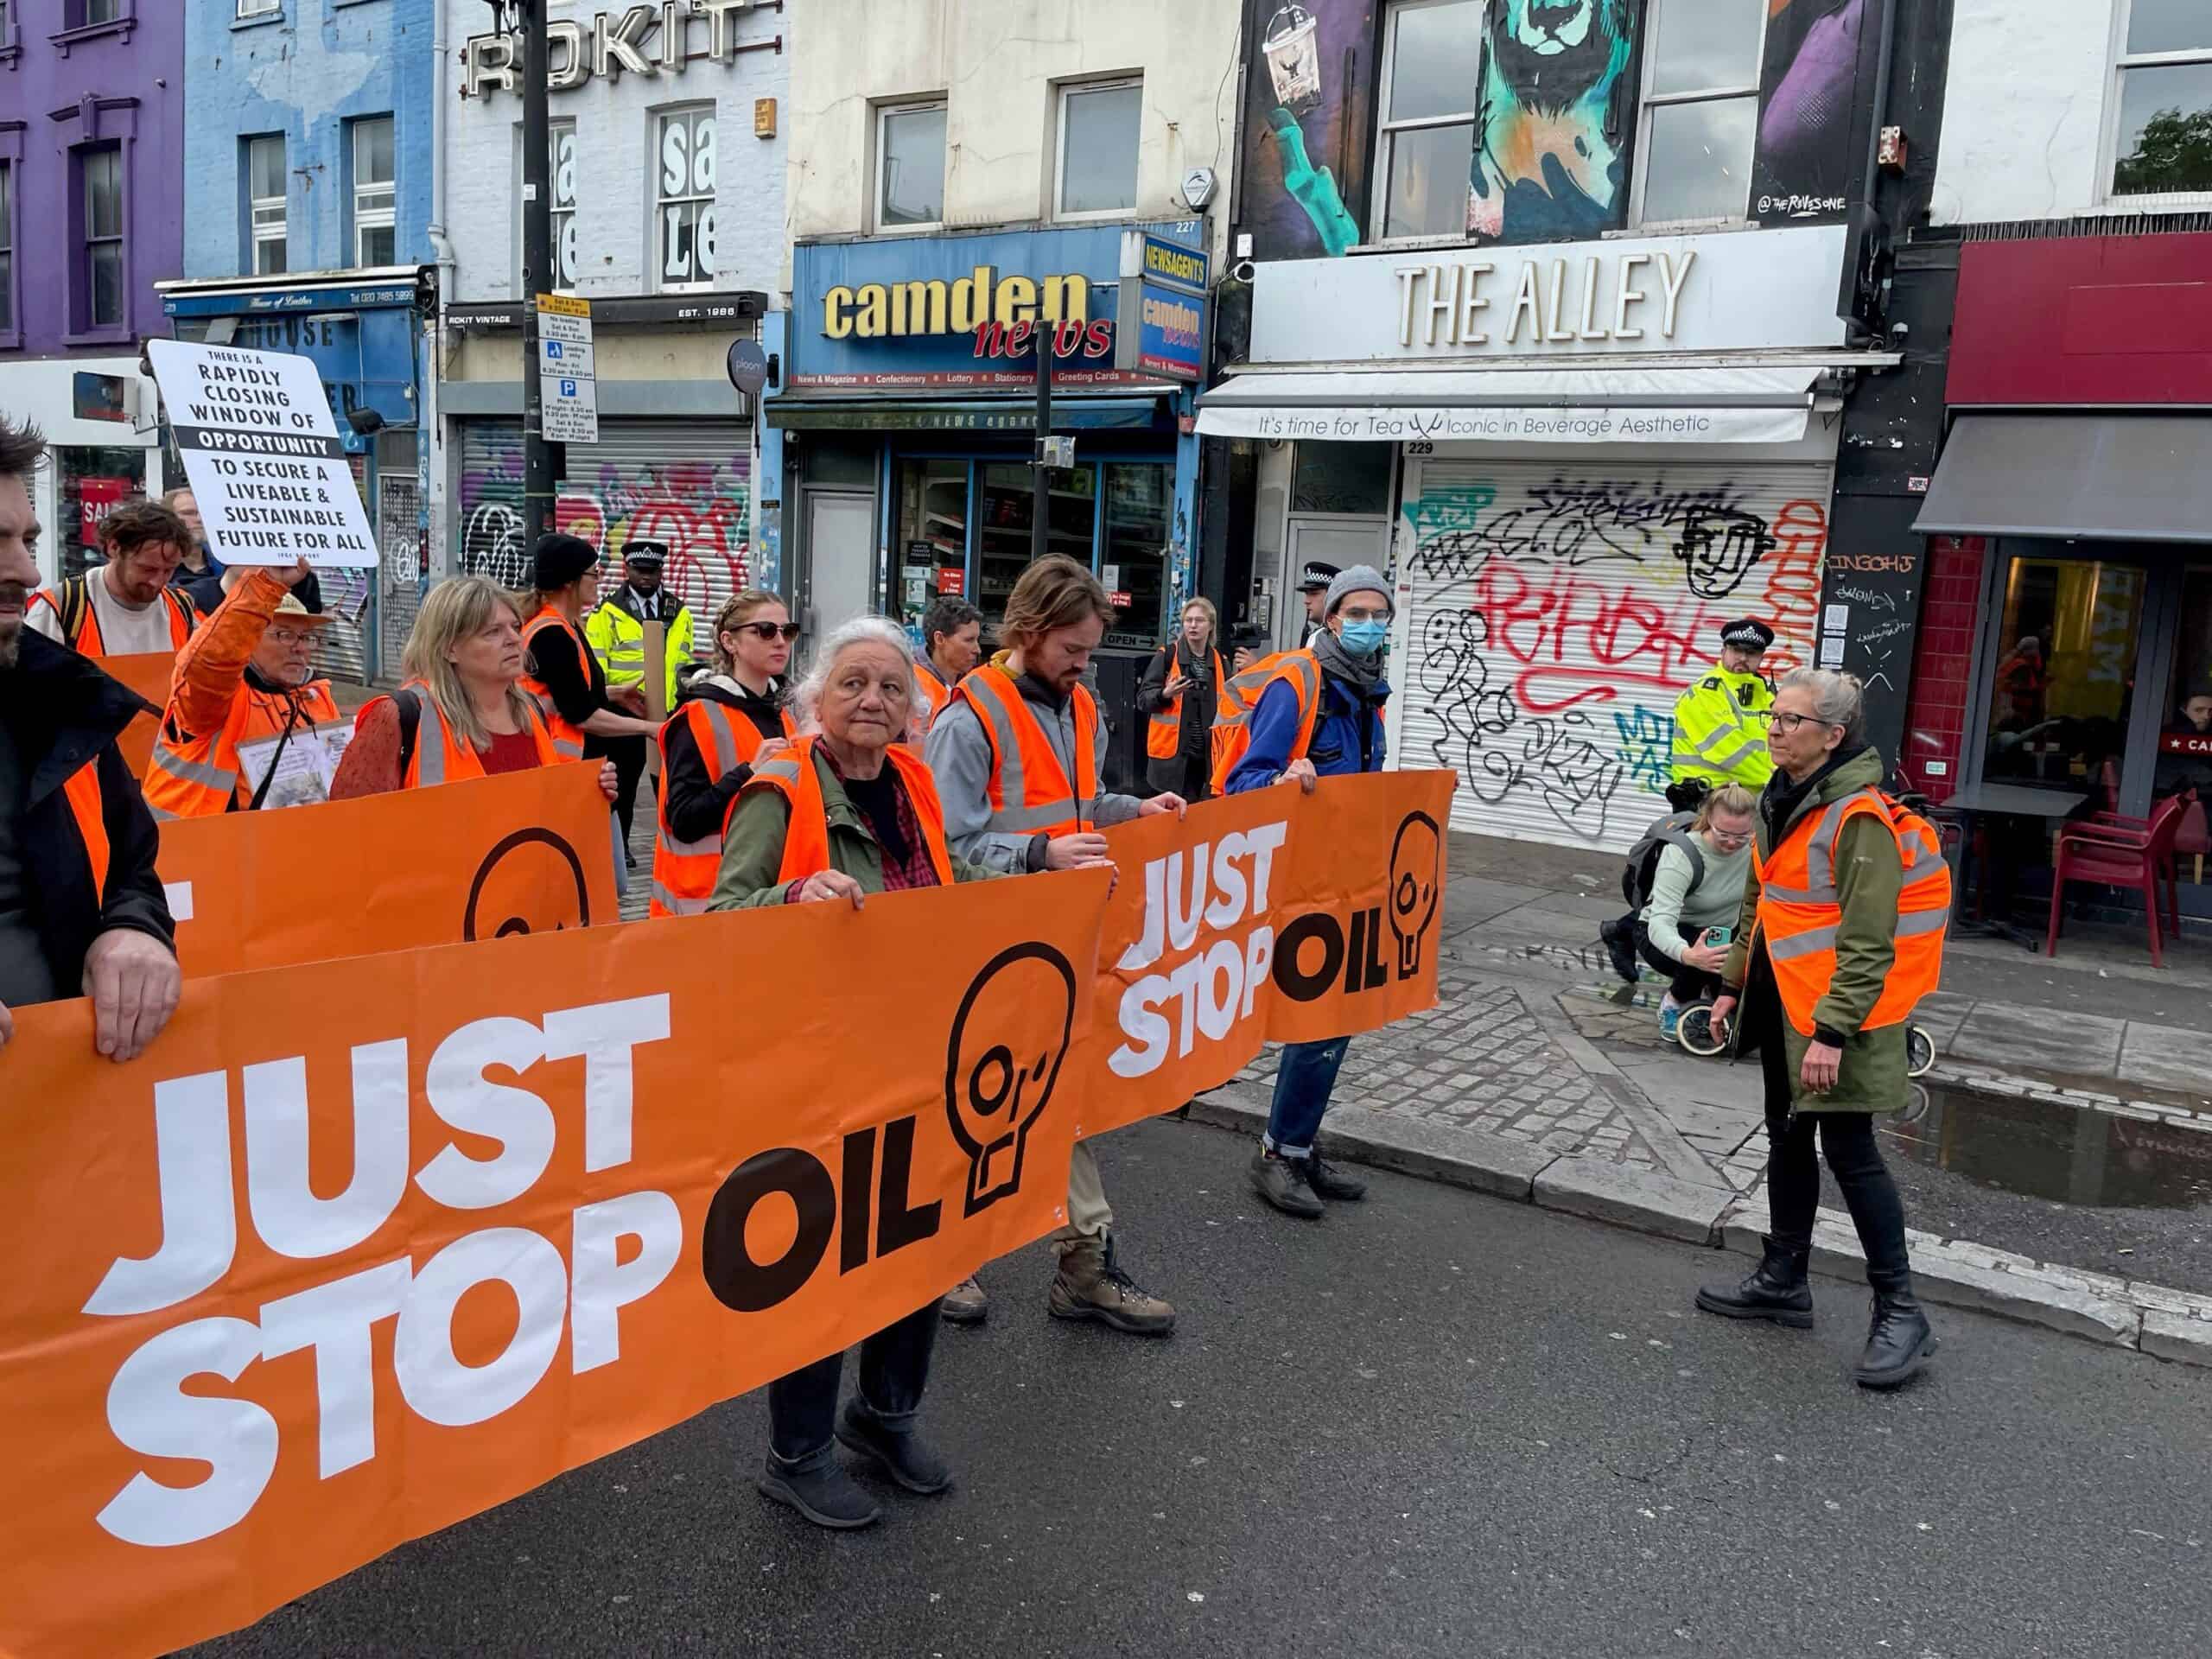
[[[1820,1166],[1851,1212],[1867,1252],[1874,1321],[1854,1378],[1871,1389],[1893,1389],[1916,1376],[1936,1352],[1927,1314],[1913,1298],[1905,1250],[1905,1203],[1882,1164],[1874,1119],[1905,1104],[1902,1020],[1865,1029],[1896,967],[1898,891],[1905,863],[1885,818],[1854,814],[1836,832],[1834,905],[1836,969],[1812,1006],[1803,1033],[1783,1009],[1767,938],[1761,927],[1759,872],[1774,849],[1807,818],[1863,790],[1880,787],[1882,757],[1865,741],[1865,695],[1856,677],[1829,668],[1798,668],[1783,679],[1767,717],[1767,750],[1776,772],[1759,796],[1752,874],[1743,885],[1736,947],[1712,1004],[1714,1024],[1734,1020],[1736,1051],[1761,1055],[1767,1097],[1767,1214],[1772,1232],[1759,1270],[1743,1283],[1708,1285],[1697,1305],[1730,1318],[1772,1318],[1812,1325],[1812,1223],[1820,1206]]]

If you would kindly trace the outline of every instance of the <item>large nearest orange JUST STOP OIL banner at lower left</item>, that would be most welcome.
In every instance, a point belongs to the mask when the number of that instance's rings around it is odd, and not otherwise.
[[[1048,1232],[1106,883],[188,980],[128,1066],[20,1011],[0,1652],[250,1624]]]

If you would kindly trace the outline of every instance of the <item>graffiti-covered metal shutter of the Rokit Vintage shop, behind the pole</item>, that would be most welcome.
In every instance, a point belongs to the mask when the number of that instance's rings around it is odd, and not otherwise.
[[[460,442],[460,568],[522,586],[522,425],[469,422]],[[668,546],[668,586],[708,646],[714,613],[752,582],[752,431],[743,420],[602,420],[568,445],[553,522],[611,562],[633,540]]]

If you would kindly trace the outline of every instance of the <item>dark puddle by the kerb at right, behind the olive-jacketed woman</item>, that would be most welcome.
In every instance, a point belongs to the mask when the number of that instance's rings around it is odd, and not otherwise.
[[[1960,1088],[1882,1124],[1889,1150],[2031,1199],[2119,1210],[2212,1203],[2212,1130]]]

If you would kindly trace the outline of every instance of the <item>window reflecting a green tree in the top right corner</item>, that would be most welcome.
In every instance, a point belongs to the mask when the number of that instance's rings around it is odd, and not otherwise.
[[[2124,0],[2112,197],[2212,192],[2212,4]]]

